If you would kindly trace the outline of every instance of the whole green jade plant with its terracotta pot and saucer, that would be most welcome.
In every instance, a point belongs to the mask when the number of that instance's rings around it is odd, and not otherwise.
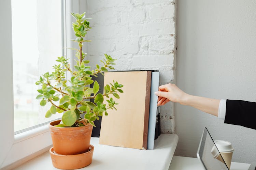
[[[54,71],[44,73],[36,82],[41,87],[37,96],[41,100],[40,105],[51,103],[45,117],[63,113],[61,120],[49,123],[53,140],[50,153],[53,165],[60,169],[77,169],[91,163],[94,148],[90,145],[90,137],[94,121],[103,114],[108,115],[108,109],[116,109],[117,103],[111,96],[119,98],[117,91],[123,92],[120,89],[123,85],[113,80],[113,83],[104,87],[103,94],[98,93],[99,84],[91,78],[114,69],[112,65],[115,65],[115,59],[105,54],[105,58],[100,60],[102,66],[97,64],[96,69],[92,70],[88,65],[90,61],[86,60],[86,53],[82,51],[83,43],[89,41],[85,39],[87,31],[91,29],[89,18],[85,18],[85,13],[71,15],[76,19],[73,22],[76,39],[73,41],[79,45],[79,49],[71,48],[76,50],[74,69],[70,68],[67,58],[58,57],[56,61],[60,64],[53,66]],[[66,72],[71,75],[69,80]],[[93,84],[93,88],[89,87],[90,84]],[[108,100],[103,103],[104,97]],[[87,99],[94,99],[94,103]]]

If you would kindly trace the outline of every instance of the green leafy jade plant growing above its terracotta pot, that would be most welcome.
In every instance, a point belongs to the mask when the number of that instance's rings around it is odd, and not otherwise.
[[[86,53],[83,52],[83,43],[90,40],[85,40],[87,31],[91,29],[89,21],[83,14],[71,15],[76,19],[73,22],[73,30],[76,36],[79,49],[70,48],[75,50],[77,57],[74,69],[70,68],[68,59],[64,56],[58,57],[56,60],[60,64],[54,65],[52,73],[44,73],[39,81],[35,84],[41,88],[37,91],[40,93],[36,99],[40,99],[40,105],[45,106],[46,103],[51,103],[51,107],[46,112],[45,117],[51,117],[56,113],[63,113],[62,121],[56,125],[59,127],[76,127],[84,126],[84,124],[91,124],[95,126],[94,121],[99,120],[99,116],[108,115],[108,109],[116,109],[114,99],[111,96],[119,99],[117,92],[123,93],[120,89],[122,84],[118,84],[113,80],[113,83],[104,86],[104,93],[98,93],[99,84],[97,81],[92,80],[92,77],[99,73],[114,69],[115,59],[110,55],[105,54],[105,58],[100,60],[101,66],[96,65],[96,69],[91,69],[88,65],[90,62],[86,59]],[[67,80],[67,72],[70,72],[71,78]],[[93,84],[93,88],[89,85]],[[103,103],[104,96],[107,99],[106,104]],[[94,99],[94,103],[88,101]],[[83,116],[82,116],[83,115]]]

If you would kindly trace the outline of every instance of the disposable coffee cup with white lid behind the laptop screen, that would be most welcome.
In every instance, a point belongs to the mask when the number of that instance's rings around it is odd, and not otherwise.
[[[224,140],[214,140],[214,143],[218,148],[219,152],[221,153],[221,156],[223,157],[226,165],[228,166],[228,169],[230,169],[231,159],[234,152],[234,148],[232,147],[231,143]]]

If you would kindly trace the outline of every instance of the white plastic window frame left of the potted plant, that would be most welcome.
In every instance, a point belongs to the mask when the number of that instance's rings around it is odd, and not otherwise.
[[[73,43],[66,39],[74,38],[70,12],[79,12],[79,0],[63,0],[62,7],[62,35],[66,35],[63,36],[63,46],[73,47]],[[11,0],[0,0],[0,169],[12,169],[52,146],[48,124],[35,126],[22,133],[14,133],[11,10]],[[71,50],[65,52],[68,56],[73,54]]]

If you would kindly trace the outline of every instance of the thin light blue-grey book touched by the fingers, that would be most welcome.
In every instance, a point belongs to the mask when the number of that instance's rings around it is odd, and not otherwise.
[[[157,117],[157,99],[158,99],[158,96],[156,96],[154,92],[158,91],[158,87],[159,87],[159,72],[152,72],[151,92],[150,92],[150,113],[149,113],[148,134],[147,134],[147,149],[154,149],[156,117]]]

